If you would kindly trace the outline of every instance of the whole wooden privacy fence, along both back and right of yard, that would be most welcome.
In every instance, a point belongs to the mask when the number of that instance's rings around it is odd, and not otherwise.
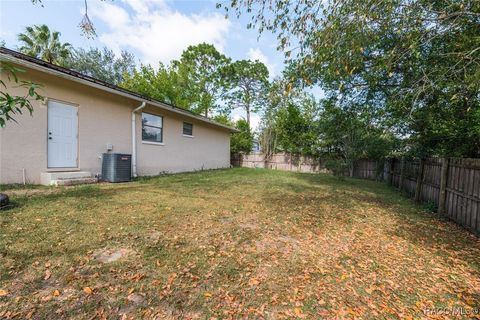
[[[325,160],[289,153],[232,155],[232,165],[298,172],[328,172]],[[480,159],[359,160],[353,176],[386,181],[418,203],[480,234]]]

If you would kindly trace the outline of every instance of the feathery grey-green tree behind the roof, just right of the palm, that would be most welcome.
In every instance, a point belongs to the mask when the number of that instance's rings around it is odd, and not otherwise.
[[[65,66],[82,74],[117,85],[123,82],[125,74],[134,73],[135,56],[127,51],[122,51],[120,56],[117,57],[107,47],[104,47],[103,50],[77,48],[66,59]]]

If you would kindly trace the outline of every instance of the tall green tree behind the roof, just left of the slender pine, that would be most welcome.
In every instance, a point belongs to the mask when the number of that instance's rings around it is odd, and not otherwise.
[[[180,60],[173,61],[190,96],[190,109],[205,117],[218,110],[226,91],[223,71],[229,63],[229,58],[206,43],[189,46]]]

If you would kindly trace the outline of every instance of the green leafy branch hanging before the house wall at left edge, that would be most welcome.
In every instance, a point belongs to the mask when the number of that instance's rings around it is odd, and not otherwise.
[[[16,122],[14,116],[22,114],[25,109],[32,114],[32,102],[43,101],[44,99],[38,92],[40,85],[18,79],[17,75],[22,72],[25,71],[8,62],[0,61],[0,74],[2,74],[2,78],[0,79],[0,87],[2,87],[0,91],[0,127],[5,127],[7,121]],[[6,91],[7,84],[3,76],[6,76],[6,79],[9,82],[13,82],[15,86],[25,89],[25,95],[11,95]],[[5,91],[3,91],[3,89],[5,89]]]

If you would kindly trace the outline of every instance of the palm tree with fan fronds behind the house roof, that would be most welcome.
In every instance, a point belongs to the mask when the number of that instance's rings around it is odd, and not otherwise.
[[[20,52],[59,65],[65,62],[72,49],[69,43],[60,42],[60,32],[50,31],[45,24],[26,27],[18,40],[22,43]]]

